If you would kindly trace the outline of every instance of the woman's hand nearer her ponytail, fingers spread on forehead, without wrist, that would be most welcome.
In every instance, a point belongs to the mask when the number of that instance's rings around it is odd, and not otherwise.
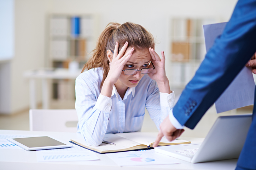
[[[134,51],[134,48],[132,48],[130,51],[124,54],[124,52],[128,47],[128,42],[124,44],[124,46],[122,47],[119,53],[118,53],[118,47],[119,47],[119,44],[118,42],[116,42],[113,58],[110,63],[109,73],[107,74],[107,77],[105,80],[105,81],[110,81],[113,85],[117,82],[118,78],[122,73],[124,64],[128,62],[128,60],[130,59]]]

